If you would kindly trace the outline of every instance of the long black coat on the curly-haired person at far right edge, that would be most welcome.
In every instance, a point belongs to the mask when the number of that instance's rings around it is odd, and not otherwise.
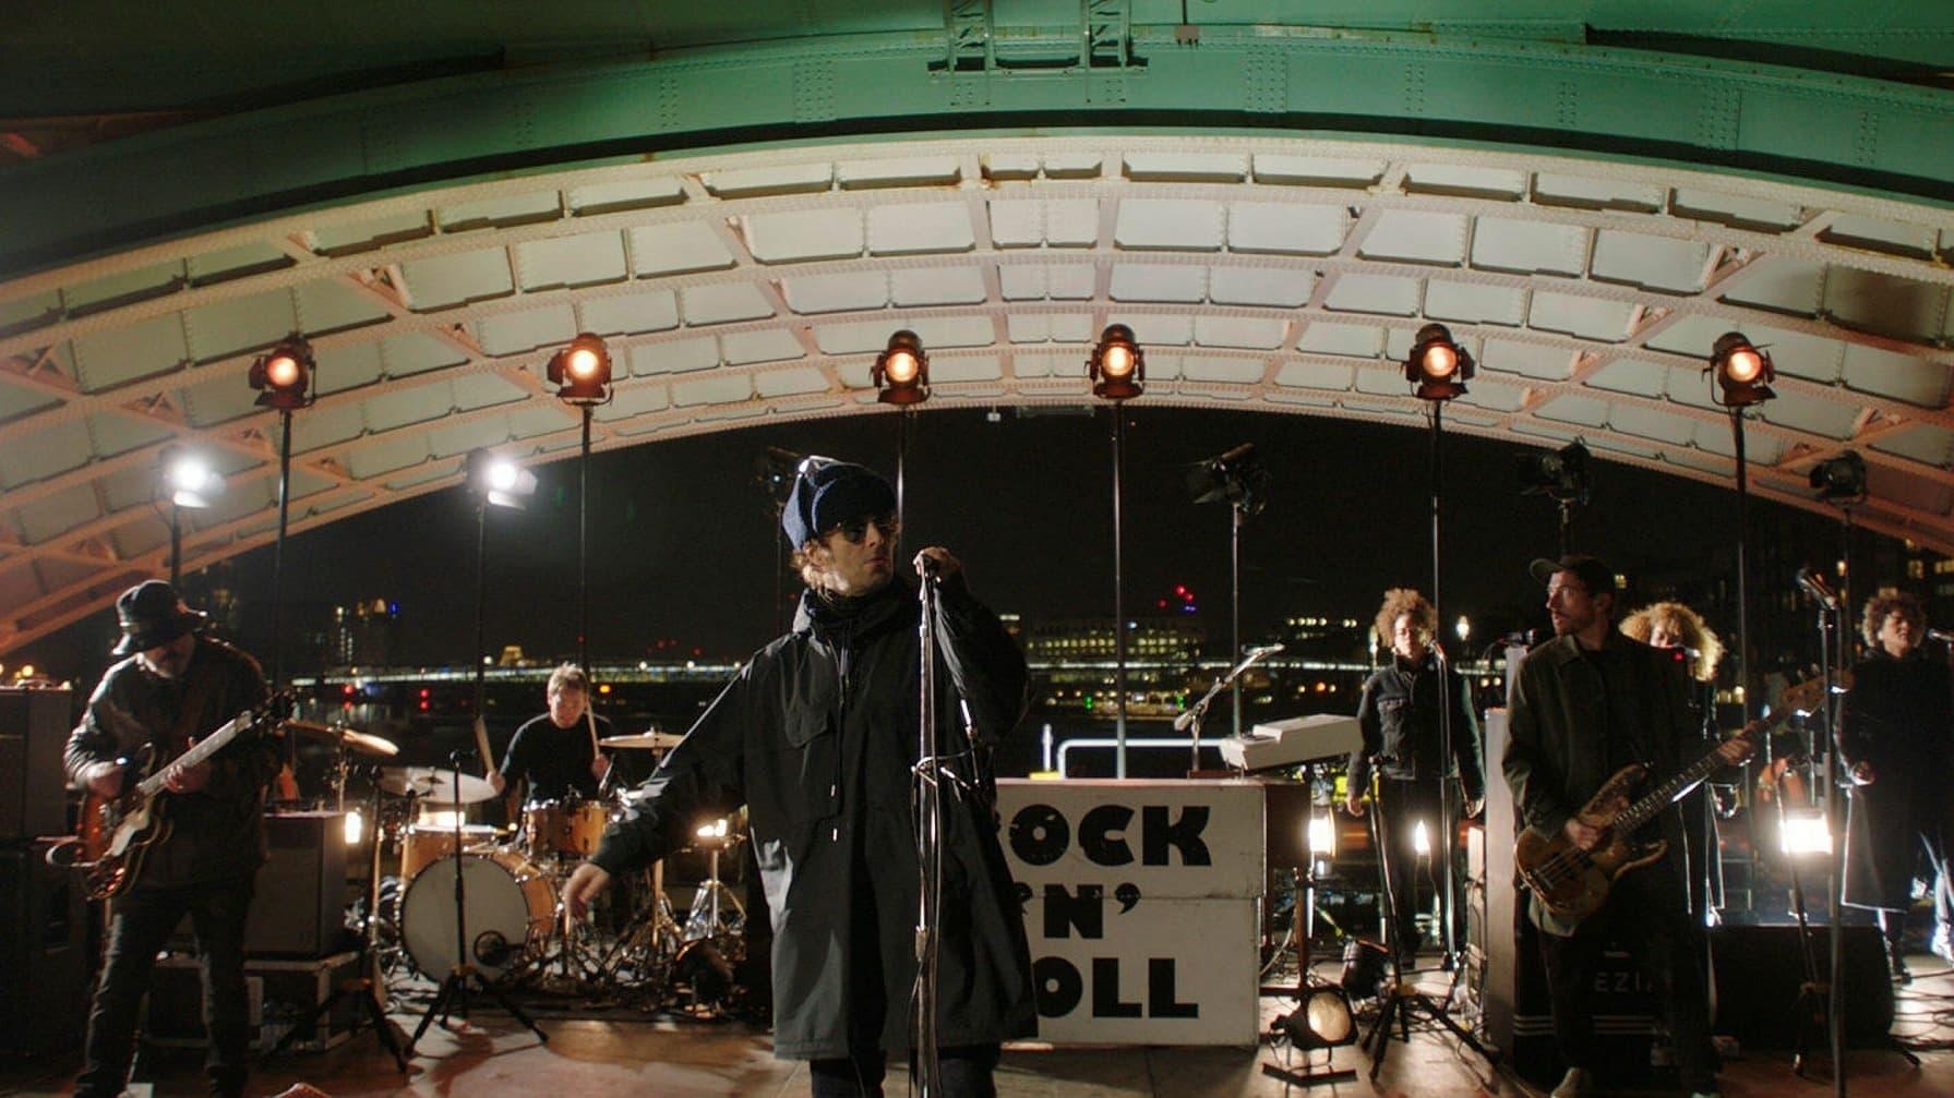
[[[1845,903],[1903,910],[1913,901],[1919,834],[1948,828],[1954,776],[1948,668],[1921,653],[1874,653],[1852,672],[1839,721],[1847,768],[1872,764],[1872,783],[1852,785],[1845,840]],[[1946,830],[1944,830],[1946,828]]]

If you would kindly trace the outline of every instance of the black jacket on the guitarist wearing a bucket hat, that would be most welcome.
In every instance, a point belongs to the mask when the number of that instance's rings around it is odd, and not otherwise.
[[[156,746],[154,774],[184,752],[178,737],[213,733],[266,697],[258,660],[209,635],[197,637],[190,666],[176,680],[129,656],[102,676],[82,723],[68,735],[68,783],[82,787],[84,766],[129,758],[145,744]],[[191,703],[195,711],[186,713]],[[211,756],[211,780],[203,789],[160,793],[170,834],[149,850],[135,887],[201,885],[254,873],[266,852],[264,789],[281,758],[277,737],[246,733]],[[139,778],[131,774],[131,785]]]

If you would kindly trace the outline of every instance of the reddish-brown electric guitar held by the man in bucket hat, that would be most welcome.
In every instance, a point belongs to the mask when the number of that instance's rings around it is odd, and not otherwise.
[[[213,754],[225,750],[238,737],[254,735],[268,725],[283,721],[291,713],[291,696],[274,694],[264,707],[246,709],[211,735],[197,740],[190,750],[156,766],[156,746],[143,748],[129,758],[125,776],[141,776],[133,785],[123,781],[123,793],[104,797],[88,793],[82,805],[82,823],[76,828],[78,858],[70,864],[84,873],[88,899],[106,901],[129,891],[137,875],[143,873],[143,860],[149,848],[170,836],[170,797],[166,778],[172,768],[197,766]]]

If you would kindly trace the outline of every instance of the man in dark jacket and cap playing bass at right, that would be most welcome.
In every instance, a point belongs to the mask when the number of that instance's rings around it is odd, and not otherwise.
[[[1520,662],[1503,758],[1507,785],[1524,826],[1542,836],[1561,832],[1581,850],[1596,850],[1608,832],[1577,815],[1589,799],[1628,764],[1647,764],[1655,783],[1694,762],[1684,758],[1684,744],[1698,733],[1680,664],[1614,629],[1612,569],[1577,555],[1534,561],[1534,576],[1548,584],[1555,637]],[[1741,740],[1718,750],[1727,762],[1745,754]],[[1702,928],[1688,914],[1680,860],[1682,821],[1665,811],[1647,826],[1661,828],[1667,854],[1616,877],[1600,912],[1569,926],[1538,897],[1530,905],[1553,1002],[1553,1039],[1567,1063],[1555,1098],[1594,1092],[1589,1006],[1608,940],[1637,953],[1667,1004],[1682,1084],[1716,1094]]]

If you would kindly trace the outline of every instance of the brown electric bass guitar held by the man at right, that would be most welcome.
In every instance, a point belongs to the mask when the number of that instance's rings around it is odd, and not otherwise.
[[[1782,725],[1792,713],[1811,711],[1821,690],[1819,680],[1786,690],[1784,703],[1776,713],[1751,721],[1733,739],[1755,744],[1759,737]],[[1575,813],[1575,819],[1602,832],[1602,842],[1594,850],[1581,850],[1561,830],[1542,836],[1534,828],[1524,828],[1512,846],[1520,883],[1532,889],[1548,910],[1567,922],[1579,922],[1600,910],[1608,903],[1608,889],[1616,877],[1669,852],[1669,840],[1635,842],[1634,834],[1704,778],[1710,778],[1712,772],[1721,770],[1725,766],[1718,754],[1721,746],[1718,744],[1634,803],[1628,797],[1647,778],[1647,768],[1637,762],[1616,770],[1600,791]]]

